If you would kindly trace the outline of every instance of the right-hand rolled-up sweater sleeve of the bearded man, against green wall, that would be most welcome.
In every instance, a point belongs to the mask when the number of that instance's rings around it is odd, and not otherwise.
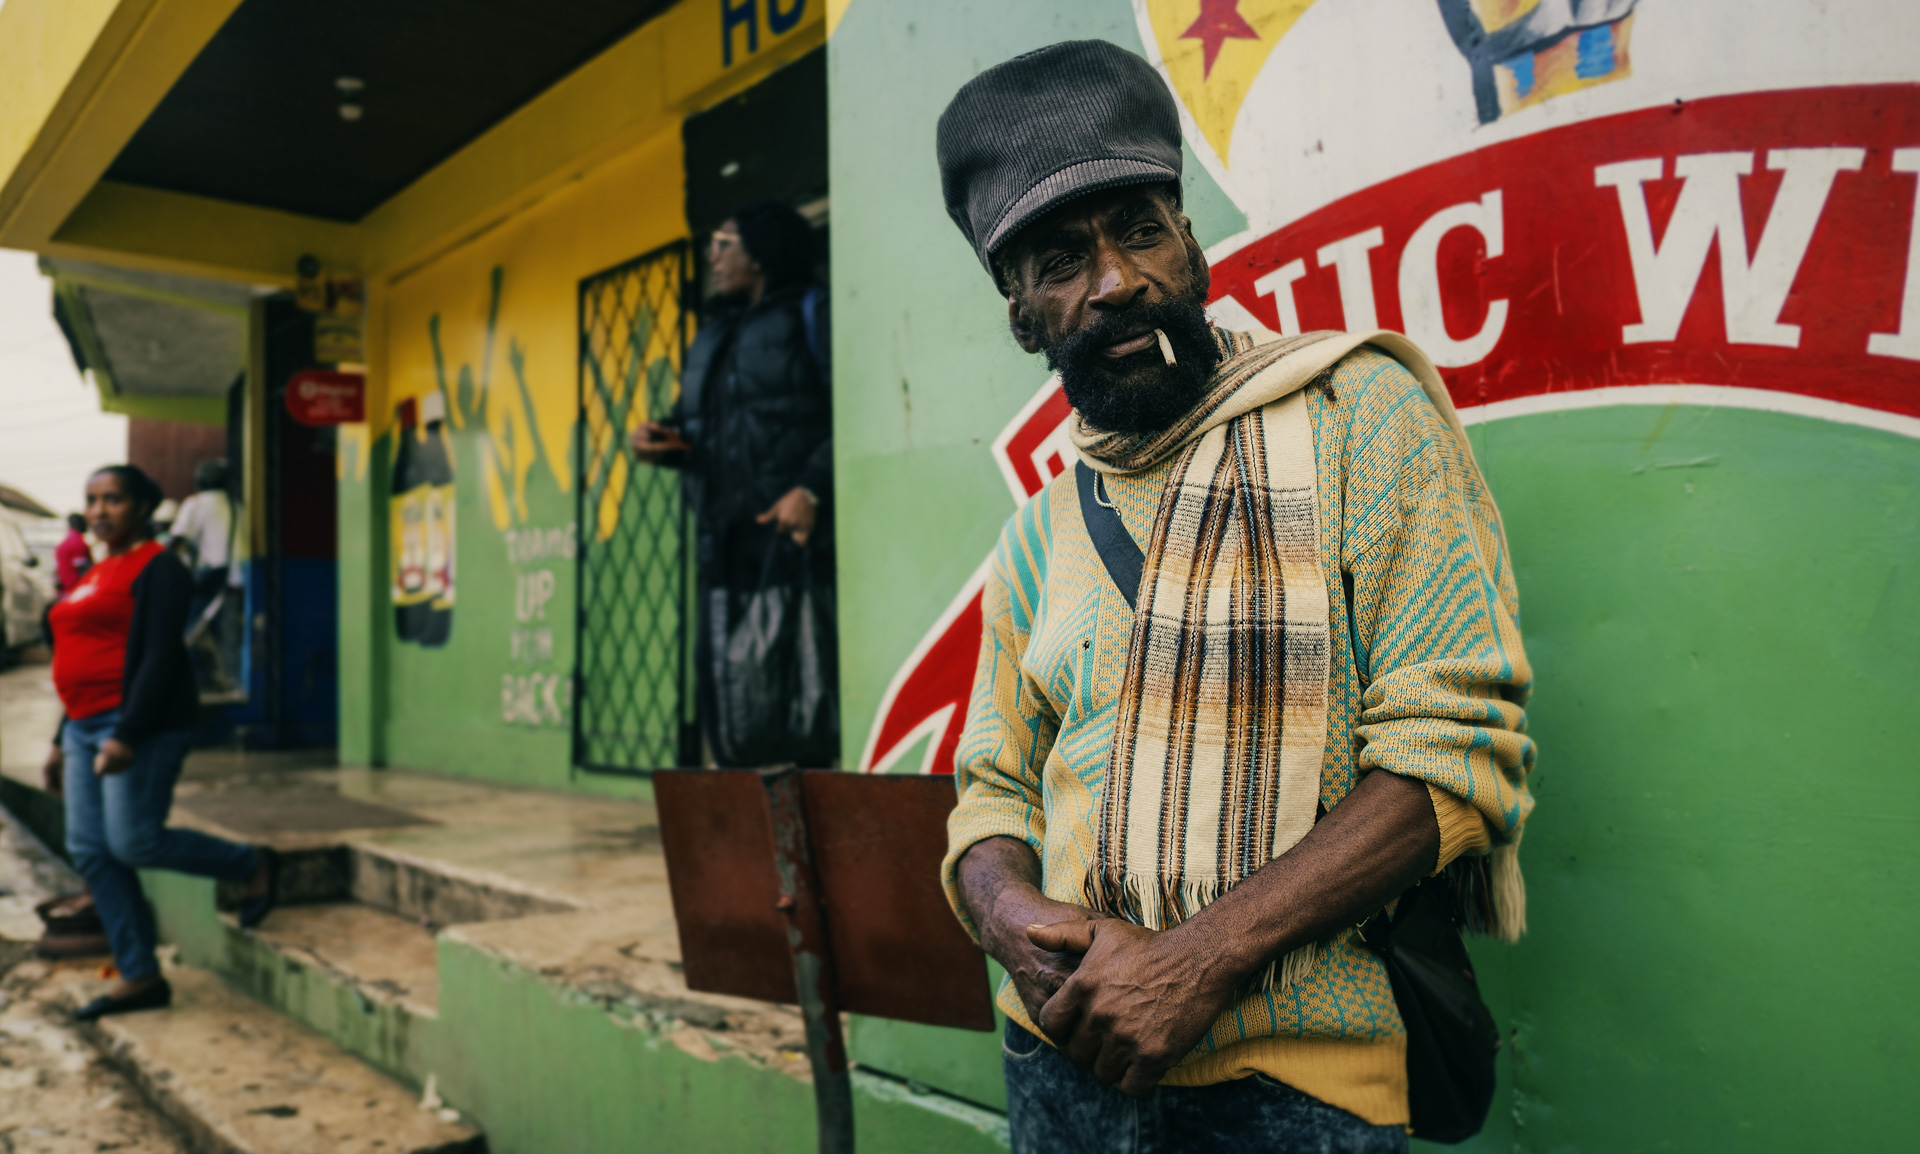
[[[1421,780],[1511,843],[1534,805],[1532,670],[1498,515],[1413,374],[1377,353],[1357,369],[1338,403],[1354,411],[1342,565],[1365,685],[1359,768]],[[1471,851],[1480,831],[1434,803],[1442,856]]]

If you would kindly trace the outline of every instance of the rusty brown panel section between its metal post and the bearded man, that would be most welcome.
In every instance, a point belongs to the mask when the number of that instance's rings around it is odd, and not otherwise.
[[[941,891],[954,780],[808,772],[801,785],[841,1006],[993,1029],[985,954]]]

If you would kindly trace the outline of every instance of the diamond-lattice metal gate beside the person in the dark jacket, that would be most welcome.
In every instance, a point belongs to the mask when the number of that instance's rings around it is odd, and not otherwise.
[[[685,242],[580,282],[580,639],[574,764],[636,774],[695,764],[691,524],[670,469],[628,434],[680,396],[691,338]]]

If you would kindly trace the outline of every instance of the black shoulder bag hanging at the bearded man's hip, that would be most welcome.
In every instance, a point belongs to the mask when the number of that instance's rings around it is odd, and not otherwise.
[[[1413,1137],[1463,1142],[1486,1125],[1494,1104],[1500,1027],[1480,998],[1473,960],[1453,918],[1446,878],[1428,878],[1359,927],[1361,943],[1386,964],[1394,1004],[1407,1025],[1407,1108]]]

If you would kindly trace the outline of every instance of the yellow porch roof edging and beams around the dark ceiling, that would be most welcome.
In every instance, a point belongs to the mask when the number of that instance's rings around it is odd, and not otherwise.
[[[161,275],[290,286],[300,255],[401,276],[804,56],[826,6],[722,50],[712,0],[682,0],[342,223],[109,180],[240,0],[6,0],[0,6],[0,248]],[[764,6],[751,6],[762,10]]]

